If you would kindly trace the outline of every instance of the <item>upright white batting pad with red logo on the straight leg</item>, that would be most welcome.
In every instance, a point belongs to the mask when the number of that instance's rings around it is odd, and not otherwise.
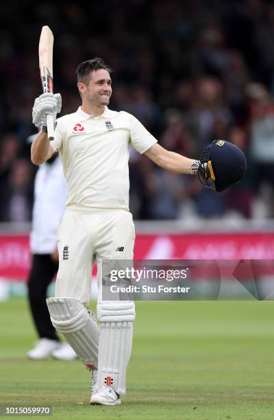
[[[135,305],[129,303],[99,303],[99,357],[95,392],[102,386],[111,386],[119,395],[125,395],[125,373],[132,353]]]

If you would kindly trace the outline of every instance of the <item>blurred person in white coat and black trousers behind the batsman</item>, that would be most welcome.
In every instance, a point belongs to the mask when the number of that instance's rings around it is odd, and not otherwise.
[[[32,141],[32,137],[29,138]],[[39,340],[27,353],[33,360],[53,356],[73,360],[76,354],[61,343],[51,323],[46,298],[47,288],[58,270],[57,231],[66,207],[66,180],[60,156],[53,155],[40,165],[34,183],[34,209],[30,248],[32,268],[28,280],[29,307]]]

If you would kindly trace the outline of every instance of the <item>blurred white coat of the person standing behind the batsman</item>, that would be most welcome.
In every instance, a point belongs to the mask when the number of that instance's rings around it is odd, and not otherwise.
[[[43,163],[34,182],[34,209],[30,247],[34,254],[51,254],[57,246],[57,231],[66,209],[66,180],[60,156]]]

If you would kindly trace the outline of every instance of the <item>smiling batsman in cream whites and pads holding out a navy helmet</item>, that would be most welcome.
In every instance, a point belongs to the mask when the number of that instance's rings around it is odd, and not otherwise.
[[[116,406],[126,392],[135,307],[133,301],[102,299],[102,260],[133,259],[129,144],[165,170],[199,174],[203,184],[217,191],[242,178],[246,161],[227,141],[212,142],[201,161],[165,150],[133,115],[108,108],[110,73],[101,58],[79,64],[76,75],[82,105],[58,119],[51,142],[46,117],[51,114],[55,119],[60,113],[61,96],[43,93],[36,98],[33,122],[40,132],[32,143],[32,162],[40,165],[59,152],[68,185],[58,231],[55,297],[47,299],[51,322],[92,373],[90,404]],[[98,323],[88,311],[95,261]]]

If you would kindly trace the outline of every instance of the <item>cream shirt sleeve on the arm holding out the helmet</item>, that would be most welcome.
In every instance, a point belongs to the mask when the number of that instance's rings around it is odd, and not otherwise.
[[[140,154],[146,152],[157,140],[149,131],[138,121],[136,117],[130,115],[130,142]]]

